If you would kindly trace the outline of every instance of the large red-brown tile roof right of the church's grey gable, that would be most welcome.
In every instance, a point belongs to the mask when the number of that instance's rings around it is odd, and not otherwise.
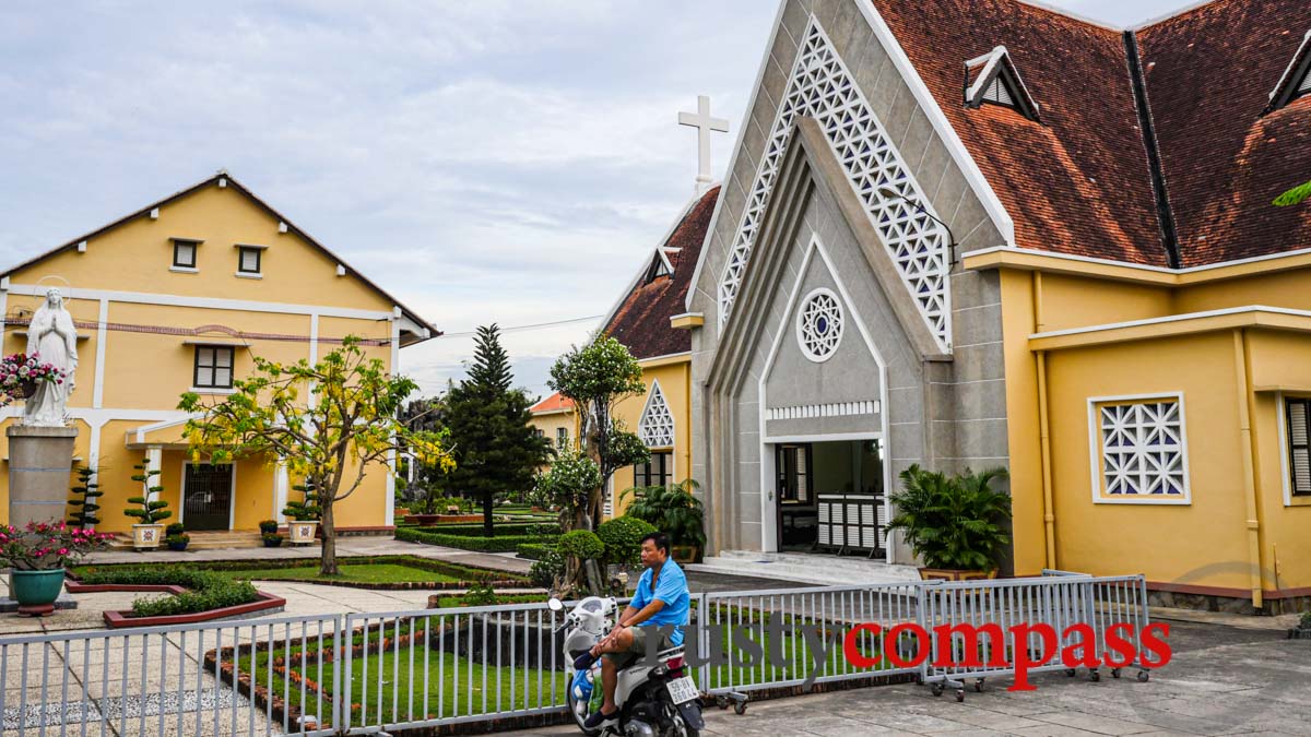
[[[867,1],[1015,219],[1016,245],[1169,265],[1120,31],[1017,0]],[[1270,206],[1311,177],[1311,100],[1261,115],[1308,28],[1302,0],[1217,0],[1137,31],[1181,266],[1311,245],[1311,209]],[[962,105],[962,63],[996,46],[1041,125]]]

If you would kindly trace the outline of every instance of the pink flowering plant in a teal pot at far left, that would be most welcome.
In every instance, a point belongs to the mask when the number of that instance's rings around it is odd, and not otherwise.
[[[18,614],[42,616],[52,612],[68,565],[104,547],[110,538],[110,534],[63,522],[0,527],[0,565],[12,569],[9,595],[18,602]]]

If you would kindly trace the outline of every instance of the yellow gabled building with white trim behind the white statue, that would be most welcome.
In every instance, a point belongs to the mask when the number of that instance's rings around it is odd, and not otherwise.
[[[180,395],[222,399],[253,357],[315,362],[346,336],[396,371],[402,346],[440,334],[225,172],[0,274],[5,355],[25,350],[26,324],[50,287],[64,294],[79,334],[73,466],[97,472],[104,531],[130,530],[122,511],[142,492],[131,476],[143,460],[160,471],[169,523],[202,531],[282,521],[295,483],[286,468],[267,458],[191,463]],[[21,412],[5,408],[5,426]],[[391,468],[370,469],[338,504],[338,530],[388,530],[393,498]]]

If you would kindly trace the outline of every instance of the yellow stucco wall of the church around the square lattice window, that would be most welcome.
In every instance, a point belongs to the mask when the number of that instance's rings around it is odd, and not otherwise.
[[[1068,265],[1061,265],[1068,268]],[[1044,565],[1100,574],[1145,573],[1151,582],[1224,590],[1252,588],[1249,488],[1256,494],[1261,588],[1311,588],[1311,501],[1285,497],[1287,466],[1280,393],[1311,396],[1311,337],[1248,329],[1245,384],[1232,329],[1049,350],[1045,355],[1055,560],[1046,556],[1040,355],[1030,336],[1247,306],[1311,309],[1311,270],[1280,270],[1224,281],[1151,285],[1002,269],[1003,341],[1015,515],[1016,573]],[[1145,279],[1147,281],[1147,279]],[[1235,334],[1239,337],[1235,338]],[[1235,346],[1239,348],[1235,348]],[[1251,388],[1251,395],[1245,389]],[[1183,392],[1192,504],[1093,504],[1088,399]],[[1251,435],[1240,401],[1251,397]],[[1255,447],[1251,471],[1244,445]],[[1251,473],[1251,479],[1247,475]]]

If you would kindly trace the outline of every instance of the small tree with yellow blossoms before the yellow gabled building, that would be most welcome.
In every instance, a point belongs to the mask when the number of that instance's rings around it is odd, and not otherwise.
[[[256,357],[250,378],[235,379],[233,393],[223,401],[207,404],[187,392],[178,404],[194,416],[185,430],[194,459],[277,458],[313,489],[323,514],[324,576],[337,573],[333,504],[359,488],[371,464],[405,450],[426,466],[455,467],[444,430],[412,430],[397,420],[418,384],[388,374],[359,342],[346,337],[313,366]]]

